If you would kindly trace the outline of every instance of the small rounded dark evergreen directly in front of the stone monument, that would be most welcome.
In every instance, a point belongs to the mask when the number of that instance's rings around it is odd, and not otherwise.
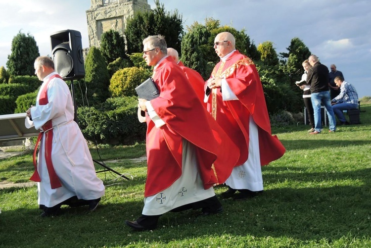
[[[125,40],[119,32],[112,29],[104,32],[100,39],[100,51],[106,63],[109,64],[117,58],[127,58],[125,54]]]

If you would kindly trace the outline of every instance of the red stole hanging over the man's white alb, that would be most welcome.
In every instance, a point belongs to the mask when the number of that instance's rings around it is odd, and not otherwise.
[[[42,92],[40,93],[40,98],[39,98],[39,105],[46,105],[49,101],[47,99],[47,85],[49,84],[50,80],[53,78],[60,78],[62,79],[58,74],[52,75],[49,80],[46,82]],[[51,123],[51,120],[48,120],[43,126],[42,126],[44,131],[41,131],[38,137],[38,140],[35,145],[35,150],[34,150],[34,167],[35,167],[35,172],[31,176],[30,180],[35,181],[35,182],[41,182],[39,172],[37,170],[37,163],[36,163],[36,152],[39,146],[39,143],[43,137],[43,134],[45,134],[45,161],[46,161],[46,168],[47,172],[49,173],[49,178],[50,178],[50,186],[52,189],[56,189],[59,187],[62,187],[59,178],[57,174],[55,173],[53,163],[51,161],[51,147],[53,143],[53,126]]]

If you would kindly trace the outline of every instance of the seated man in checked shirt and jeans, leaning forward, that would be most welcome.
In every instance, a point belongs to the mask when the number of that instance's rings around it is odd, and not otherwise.
[[[339,125],[349,125],[345,119],[343,110],[349,110],[358,107],[358,95],[356,88],[350,83],[344,81],[344,78],[338,76],[334,79],[337,87],[340,87],[340,94],[331,100],[332,109],[339,119]]]

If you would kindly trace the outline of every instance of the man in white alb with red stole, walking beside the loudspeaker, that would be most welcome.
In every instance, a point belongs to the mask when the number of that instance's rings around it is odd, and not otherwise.
[[[36,106],[26,111],[26,126],[34,125],[41,131],[38,161],[36,163],[36,144],[35,172],[30,179],[38,182],[42,216],[59,214],[62,204],[89,205],[93,211],[104,195],[104,185],[95,174],[92,155],[74,121],[70,90],[47,56],[35,60],[35,74],[44,82]]]

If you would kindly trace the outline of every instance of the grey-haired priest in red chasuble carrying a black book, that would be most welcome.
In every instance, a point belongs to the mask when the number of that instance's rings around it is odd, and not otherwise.
[[[168,211],[222,212],[213,186],[227,180],[239,157],[239,149],[207,112],[180,66],[167,56],[164,37],[149,36],[143,46],[160,95],[138,104],[147,123],[144,207],[137,220],[125,223],[139,231],[156,228],[159,216]]]

